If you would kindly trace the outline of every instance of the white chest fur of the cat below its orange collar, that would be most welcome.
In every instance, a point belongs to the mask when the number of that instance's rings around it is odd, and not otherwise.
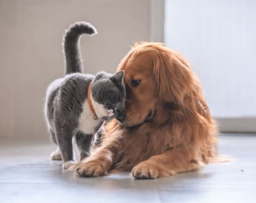
[[[94,119],[94,114],[90,109],[88,100],[86,99],[82,105],[82,113],[79,117],[78,130],[86,134],[94,134],[95,128],[99,125],[102,120],[100,118]]]

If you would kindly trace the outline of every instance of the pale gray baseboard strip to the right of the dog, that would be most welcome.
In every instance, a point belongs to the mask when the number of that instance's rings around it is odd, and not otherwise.
[[[256,133],[256,118],[215,118],[222,133]]]

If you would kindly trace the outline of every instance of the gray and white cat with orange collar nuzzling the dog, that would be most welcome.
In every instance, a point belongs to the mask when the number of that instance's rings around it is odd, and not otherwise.
[[[114,117],[120,120],[123,115],[124,72],[99,72],[95,77],[82,74],[79,38],[82,34],[96,33],[96,29],[87,22],[76,22],[70,26],[63,37],[66,76],[51,83],[46,93],[48,130],[57,145],[51,159],[63,159],[62,167],[65,169],[75,164],[73,137],[80,150],[80,158],[88,157],[95,134],[103,122]]]

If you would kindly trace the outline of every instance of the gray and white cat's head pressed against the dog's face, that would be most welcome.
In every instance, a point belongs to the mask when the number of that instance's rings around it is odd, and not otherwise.
[[[91,85],[92,103],[98,117],[107,120],[123,115],[125,105],[124,71],[99,72]]]

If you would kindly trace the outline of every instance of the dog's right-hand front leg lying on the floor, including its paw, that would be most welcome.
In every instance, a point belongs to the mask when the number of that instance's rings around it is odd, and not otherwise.
[[[199,170],[202,167],[202,164],[195,160],[189,160],[186,155],[187,152],[184,151],[168,150],[134,166],[132,175],[136,179],[155,179]]]

